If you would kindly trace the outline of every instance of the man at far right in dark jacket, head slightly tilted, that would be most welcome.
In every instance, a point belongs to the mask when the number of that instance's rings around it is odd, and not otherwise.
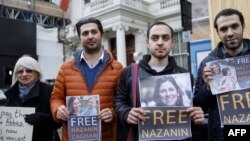
[[[201,106],[208,118],[209,141],[224,141],[223,128],[218,110],[216,96],[212,95],[209,82],[213,79],[213,68],[206,66],[207,62],[250,54],[250,40],[243,39],[245,23],[243,15],[235,9],[224,9],[217,14],[214,20],[221,42],[201,62],[198,77],[195,82],[194,105]]]

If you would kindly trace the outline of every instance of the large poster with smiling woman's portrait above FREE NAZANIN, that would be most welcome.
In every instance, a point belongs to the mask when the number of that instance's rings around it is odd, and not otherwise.
[[[190,73],[150,76],[139,79],[145,121],[139,122],[139,140],[181,140],[191,134],[192,106]]]

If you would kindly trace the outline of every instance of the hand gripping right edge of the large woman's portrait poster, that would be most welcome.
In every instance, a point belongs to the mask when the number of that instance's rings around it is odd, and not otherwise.
[[[195,124],[204,123],[204,112],[202,111],[201,107],[190,107],[187,109],[187,112],[189,112],[189,116]]]

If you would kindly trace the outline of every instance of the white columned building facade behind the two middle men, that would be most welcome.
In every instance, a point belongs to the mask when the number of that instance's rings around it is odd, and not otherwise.
[[[72,0],[67,27],[66,58],[80,45],[75,23],[84,17],[99,19],[104,27],[104,48],[110,49],[123,66],[138,61],[148,53],[146,30],[156,21],[174,29],[176,46],[173,55],[180,66],[188,68],[187,44],[182,42],[181,0]]]

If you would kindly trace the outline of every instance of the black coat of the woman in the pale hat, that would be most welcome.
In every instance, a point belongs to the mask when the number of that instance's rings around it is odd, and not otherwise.
[[[12,107],[35,107],[35,113],[39,113],[37,125],[33,128],[32,141],[52,141],[53,134],[60,127],[56,123],[50,112],[50,95],[52,86],[37,81],[35,86],[30,91],[31,97],[24,103],[19,98],[18,82],[15,83],[5,95],[7,97],[6,106]]]

